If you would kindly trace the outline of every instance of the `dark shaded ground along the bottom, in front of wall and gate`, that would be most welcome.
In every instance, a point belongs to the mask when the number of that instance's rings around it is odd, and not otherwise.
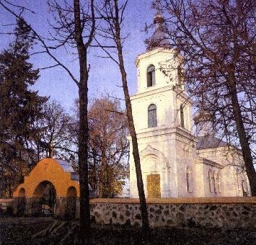
[[[256,244],[256,231],[92,225],[93,244]],[[53,218],[0,218],[0,244],[79,244],[79,223]]]

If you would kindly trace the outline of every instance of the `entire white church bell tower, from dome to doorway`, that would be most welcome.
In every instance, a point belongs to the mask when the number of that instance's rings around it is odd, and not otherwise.
[[[154,197],[154,186],[158,188],[156,197],[191,196],[193,184],[188,191],[185,183],[195,153],[192,101],[185,94],[182,56],[167,38],[162,15],[156,14],[154,24],[154,33],[146,40],[146,53],[136,58],[138,92],[131,97],[144,190],[146,197]],[[132,148],[130,154],[131,197],[138,197]],[[151,183],[152,179],[158,183]]]

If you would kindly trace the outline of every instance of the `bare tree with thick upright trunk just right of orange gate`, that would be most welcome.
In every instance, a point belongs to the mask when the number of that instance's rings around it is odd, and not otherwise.
[[[47,53],[53,60],[53,65],[63,68],[70,78],[76,83],[79,89],[79,184],[80,184],[80,228],[82,244],[90,242],[90,211],[89,211],[89,187],[88,187],[88,163],[87,163],[87,141],[88,141],[88,121],[87,121],[87,92],[89,65],[87,63],[88,48],[92,43],[95,31],[94,17],[94,0],[85,1],[81,7],[79,0],[63,1],[59,4],[56,0],[49,0],[48,5],[53,13],[55,24],[52,24],[53,33],[50,38],[44,39],[37,33],[30,24],[33,35],[40,43],[43,50],[37,53]],[[22,12],[29,9],[23,6],[17,6],[9,1],[0,1],[0,6],[14,14],[17,19],[21,18]],[[14,12],[12,8],[18,8],[19,13]],[[48,44],[51,42],[53,44]],[[57,48],[74,48],[76,50],[79,61],[79,79],[76,79],[75,74],[58,59],[53,52]]]

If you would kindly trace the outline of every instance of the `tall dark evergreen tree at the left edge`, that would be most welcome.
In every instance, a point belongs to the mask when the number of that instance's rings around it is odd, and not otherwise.
[[[30,89],[39,71],[29,62],[34,37],[23,19],[17,20],[14,34],[14,42],[0,54],[0,188],[7,187],[8,195],[29,160],[25,139],[32,137],[30,125],[46,101]]]

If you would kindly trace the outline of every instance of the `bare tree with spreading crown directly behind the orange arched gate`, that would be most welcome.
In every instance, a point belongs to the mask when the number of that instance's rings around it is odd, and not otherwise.
[[[32,138],[26,140],[27,148],[31,149],[31,155],[35,162],[43,157],[61,157],[69,159],[70,153],[74,153],[70,126],[74,123],[61,104],[48,102],[43,105],[42,115],[32,122]],[[76,153],[76,151],[75,151]]]

